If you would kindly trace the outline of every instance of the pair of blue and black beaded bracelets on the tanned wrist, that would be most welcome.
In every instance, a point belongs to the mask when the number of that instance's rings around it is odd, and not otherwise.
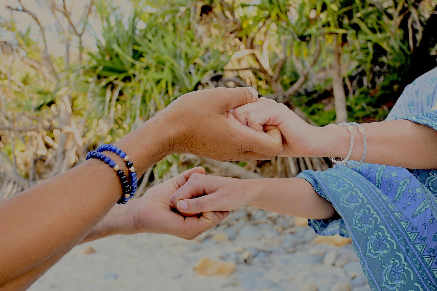
[[[129,169],[129,177],[131,178],[132,183],[129,184],[128,177],[126,177],[123,170],[120,170],[120,167],[111,160],[110,157],[105,156],[102,152],[104,151],[111,151],[120,156],[125,162],[126,166]],[[123,190],[123,196],[117,201],[118,204],[125,204],[129,201],[129,199],[135,194],[135,191],[137,189],[138,185],[138,178],[136,177],[135,168],[133,166],[132,161],[129,160],[129,156],[126,155],[125,152],[123,152],[121,149],[116,147],[115,145],[101,145],[97,148],[95,151],[88,152],[87,159],[90,158],[97,158],[105,163],[109,164],[111,168],[114,169],[114,171],[117,173],[117,176],[120,178],[121,187]]]

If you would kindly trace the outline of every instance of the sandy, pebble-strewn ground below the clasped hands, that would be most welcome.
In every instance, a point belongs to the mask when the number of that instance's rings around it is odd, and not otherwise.
[[[299,225],[293,217],[246,207],[193,241],[112,236],[75,247],[29,290],[370,290],[350,243],[317,243],[314,231]],[[90,247],[95,253],[85,254]],[[194,267],[202,257],[231,262],[235,271],[198,275]]]

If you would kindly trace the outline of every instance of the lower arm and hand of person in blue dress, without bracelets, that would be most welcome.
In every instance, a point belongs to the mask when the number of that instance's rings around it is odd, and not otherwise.
[[[332,204],[302,178],[240,180],[193,174],[170,201],[181,213],[190,215],[236,210],[246,204],[312,219],[336,215]]]

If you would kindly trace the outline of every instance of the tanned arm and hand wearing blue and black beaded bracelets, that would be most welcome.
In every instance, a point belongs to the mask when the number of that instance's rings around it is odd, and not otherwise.
[[[278,132],[256,132],[228,112],[255,97],[247,88],[185,94],[115,145],[128,153],[139,175],[171,152],[219,160],[271,158],[281,151]],[[55,263],[80,243],[119,197],[121,185],[114,171],[90,159],[3,201],[0,286],[29,271],[38,277],[32,270]]]

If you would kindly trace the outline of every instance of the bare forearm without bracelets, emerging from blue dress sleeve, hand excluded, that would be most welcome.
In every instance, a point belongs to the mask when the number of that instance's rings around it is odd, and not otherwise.
[[[302,178],[242,180],[250,205],[286,215],[323,219],[336,215],[332,204]]]

